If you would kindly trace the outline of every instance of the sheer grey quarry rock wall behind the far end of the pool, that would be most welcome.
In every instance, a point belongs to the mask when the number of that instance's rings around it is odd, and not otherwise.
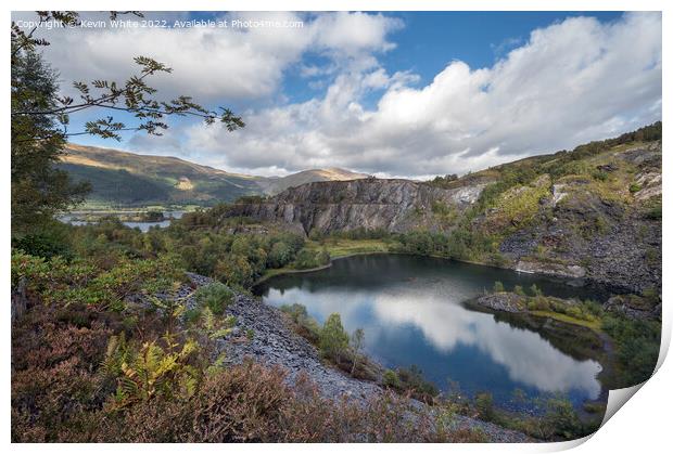
[[[301,225],[305,233],[355,229],[437,230],[433,207],[464,209],[485,184],[440,189],[410,180],[329,181],[291,187],[261,204],[236,205],[236,216]]]

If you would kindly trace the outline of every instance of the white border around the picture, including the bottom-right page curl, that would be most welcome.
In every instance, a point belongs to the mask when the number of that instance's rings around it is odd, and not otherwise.
[[[665,77],[669,68],[670,52],[665,46],[668,31],[671,28],[671,21],[669,20],[669,11],[671,9],[669,4],[673,2],[663,0],[416,0],[416,1],[403,1],[403,0],[323,0],[320,2],[310,0],[229,0],[229,1],[216,1],[216,0],[191,0],[189,2],[179,2],[177,0],[145,0],[145,1],[98,1],[94,4],[91,1],[84,0],[58,0],[58,1],[14,1],[13,4],[4,3],[2,10],[2,17],[4,24],[10,24],[11,10],[17,11],[34,11],[34,10],[48,10],[58,7],[60,10],[75,10],[75,11],[90,11],[90,10],[144,10],[144,11],[227,11],[227,10],[240,10],[240,11],[348,11],[348,10],[363,10],[363,11],[663,11],[663,80],[668,80]],[[668,7],[668,8],[666,8]],[[3,65],[4,80],[9,80],[9,40],[5,41]],[[10,91],[2,90],[1,95],[4,101],[4,108],[2,109],[3,122],[2,127],[5,133],[3,138],[4,160],[3,176],[0,184],[2,184],[2,229],[1,242],[4,250],[3,259],[1,261],[2,267],[2,286],[3,294],[9,296],[9,257],[10,257],[10,166],[9,166],[9,104],[10,104]],[[671,135],[669,132],[672,130],[670,125],[665,121],[666,112],[669,111],[669,89],[666,83],[663,86],[663,126],[664,138],[668,139]],[[664,141],[668,143],[668,140]],[[663,154],[663,167],[664,174],[668,176],[671,166],[671,157],[666,152]],[[670,202],[670,184],[668,177],[663,179],[663,192],[664,192],[664,219],[665,213],[671,211]],[[665,225],[665,223],[664,223]],[[665,229],[664,229],[665,230]],[[664,300],[664,326],[663,326],[663,346],[668,350],[668,346],[671,340],[671,316],[670,316],[670,302],[671,290],[666,285],[668,277],[670,276],[671,242],[668,237],[663,238],[663,300]],[[5,300],[7,301],[7,300]],[[7,304],[5,304],[7,308]],[[10,320],[9,310],[3,310],[1,315],[3,326],[7,327],[3,336],[2,345],[2,426],[3,440],[5,443],[10,441]],[[662,351],[661,360],[664,356]],[[576,447],[577,452],[595,452],[606,451],[610,453],[619,452],[662,452],[664,446],[670,446],[670,431],[671,425],[668,423],[669,408],[673,403],[671,399],[672,392],[670,386],[673,385],[673,372],[671,371],[671,361],[664,362],[659,372],[637,392],[634,399],[631,399],[621,411],[618,411],[614,417],[612,417],[605,427],[602,427],[594,437],[592,437],[585,443],[581,443]],[[576,442],[569,443],[556,443],[556,444],[488,444],[488,445],[240,445],[240,446],[220,446],[220,445],[18,445],[11,446],[12,450],[17,452],[90,452],[96,450],[100,453],[117,453],[119,451],[162,451],[166,453],[185,452],[189,450],[191,452],[221,452],[223,450],[237,450],[240,452],[268,452],[274,450],[275,452],[300,452],[308,453],[316,450],[322,452],[365,452],[370,450],[385,450],[389,452],[405,452],[408,450],[423,450],[424,452],[544,452],[544,451],[560,451],[563,449],[576,445]]]

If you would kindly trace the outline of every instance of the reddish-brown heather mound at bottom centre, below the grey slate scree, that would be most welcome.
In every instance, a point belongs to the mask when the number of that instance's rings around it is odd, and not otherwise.
[[[305,376],[293,387],[280,368],[246,363],[207,376],[190,400],[151,400],[98,414],[89,441],[106,442],[428,442],[486,440],[435,430],[433,417],[390,392],[365,405],[320,395]]]

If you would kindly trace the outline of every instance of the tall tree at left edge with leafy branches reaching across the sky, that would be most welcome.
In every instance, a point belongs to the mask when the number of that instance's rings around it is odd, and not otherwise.
[[[128,13],[142,16],[137,12]],[[111,17],[115,18],[117,14],[112,12]],[[77,25],[79,16],[69,11],[38,11],[37,16],[37,24],[29,31],[22,30],[14,22],[11,25],[13,234],[40,225],[56,211],[84,200],[89,186],[73,184],[66,172],[54,167],[71,137],[93,134],[120,140],[120,131],[161,135],[168,128],[165,122],[168,116],[196,117],[207,125],[219,121],[229,131],[245,126],[230,109],[209,111],[187,95],[170,101],[155,99],[156,90],[148,85],[148,78],[172,69],[147,56],[135,59],[139,72],[126,81],[75,81],[73,87],[78,93],[77,99],[60,96],[56,72],[37,53],[39,47],[49,46],[49,42],[35,34],[48,22]],[[87,121],[84,131],[67,129],[72,115],[92,108],[130,113],[137,124],[127,126],[112,116],[104,116]]]

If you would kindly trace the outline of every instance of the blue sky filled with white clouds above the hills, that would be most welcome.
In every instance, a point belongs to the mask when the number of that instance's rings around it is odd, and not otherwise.
[[[161,138],[129,132],[120,142],[75,142],[262,176],[341,167],[422,179],[571,150],[661,119],[658,12],[153,12],[145,18],[165,27],[41,29],[61,90],[72,93],[74,80],[123,81],[136,73],[134,56],[145,55],[174,69],[150,79],[157,98],[188,94],[209,108],[231,107],[246,127],[228,132],[170,118]],[[175,22],[190,20],[227,20],[229,27]],[[74,115],[69,130],[106,115],[134,124],[90,109]]]

